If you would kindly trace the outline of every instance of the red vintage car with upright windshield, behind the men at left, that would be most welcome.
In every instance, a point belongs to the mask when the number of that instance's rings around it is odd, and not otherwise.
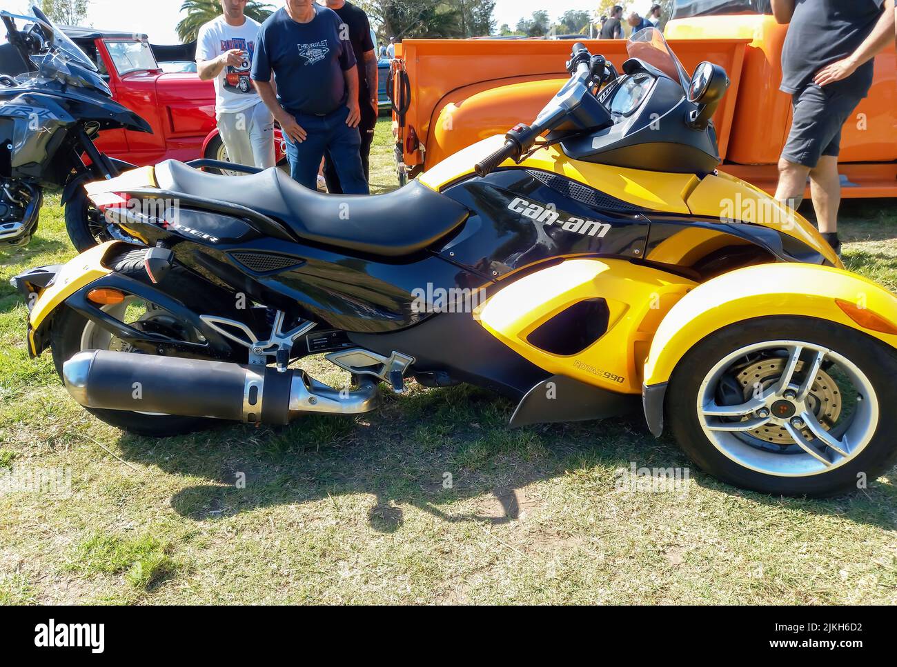
[[[100,151],[138,166],[169,159],[227,160],[215,124],[213,82],[201,81],[195,71],[165,72],[157,61],[156,54],[160,54],[166,60],[193,62],[195,43],[151,47],[146,35],[139,33],[77,27],[62,30],[96,62],[113,98],[152,126],[152,134],[123,129],[102,132],[96,141]],[[279,128],[275,129],[274,146],[280,163],[285,144]]]

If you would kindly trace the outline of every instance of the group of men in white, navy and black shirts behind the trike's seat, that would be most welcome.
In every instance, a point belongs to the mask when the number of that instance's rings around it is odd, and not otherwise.
[[[229,159],[274,166],[276,122],[292,178],[311,189],[321,179],[330,193],[367,195],[378,113],[367,15],[347,0],[286,0],[259,24],[245,14],[246,2],[221,0],[222,15],[196,39],[197,72],[214,82]]]

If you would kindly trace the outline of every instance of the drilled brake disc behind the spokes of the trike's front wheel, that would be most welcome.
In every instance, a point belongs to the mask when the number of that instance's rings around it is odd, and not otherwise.
[[[745,401],[751,399],[757,388],[764,391],[771,385],[776,384],[785,370],[786,361],[787,359],[784,357],[761,359],[740,368],[736,378],[738,383],[742,385]],[[799,376],[803,367],[804,362],[798,361],[795,375]],[[841,394],[838,385],[822,368],[816,373],[813,386],[810,387],[810,395],[807,402],[816,415],[816,419],[823,425],[823,429],[832,429],[832,426],[840,417]],[[766,442],[771,442],[774,445],[787,446],[794,442],[791,436],[788,435],[785,427],[776,424],[767,424],[766,426],[746,431],[746,433]],[[804,429],[801,433],[807,440],[813,439],[813,434],[810,433],[809,429]]]

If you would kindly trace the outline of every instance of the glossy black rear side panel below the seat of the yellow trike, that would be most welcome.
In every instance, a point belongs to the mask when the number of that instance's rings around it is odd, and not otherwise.
[[[431,313],[415,303],[428,286],[472,290],[489,282],[429,251],[400,258],[369,256],[288,240],[285,230],[275,238],[259,230],[262,224],[248,216],[184,208],[176,222],[126,221],[151,245],[161,241],[179,264],[211,282],[348,332],[383,333],[422,322]]]

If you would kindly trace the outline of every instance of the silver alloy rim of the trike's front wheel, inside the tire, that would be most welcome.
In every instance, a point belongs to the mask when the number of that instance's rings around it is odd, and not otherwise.
[[[720,403],[727,387],[746,387],[739,397],[746,400]],[[701,429],[723,455],[781,477],[849,462],[875,435],[879,417],[872,383],[856,364],[799,341],[757,342],[720,359],[701,383],[697,411]]]

